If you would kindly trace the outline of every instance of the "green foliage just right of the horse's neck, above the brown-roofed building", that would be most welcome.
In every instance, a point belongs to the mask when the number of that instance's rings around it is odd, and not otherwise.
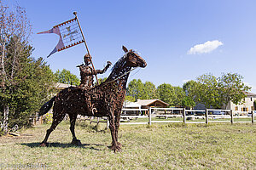
[[[140,79],[133,79],[128,84],[127,96],[133,99],[157,99],[156,88],[152,82],[143,83]]]

